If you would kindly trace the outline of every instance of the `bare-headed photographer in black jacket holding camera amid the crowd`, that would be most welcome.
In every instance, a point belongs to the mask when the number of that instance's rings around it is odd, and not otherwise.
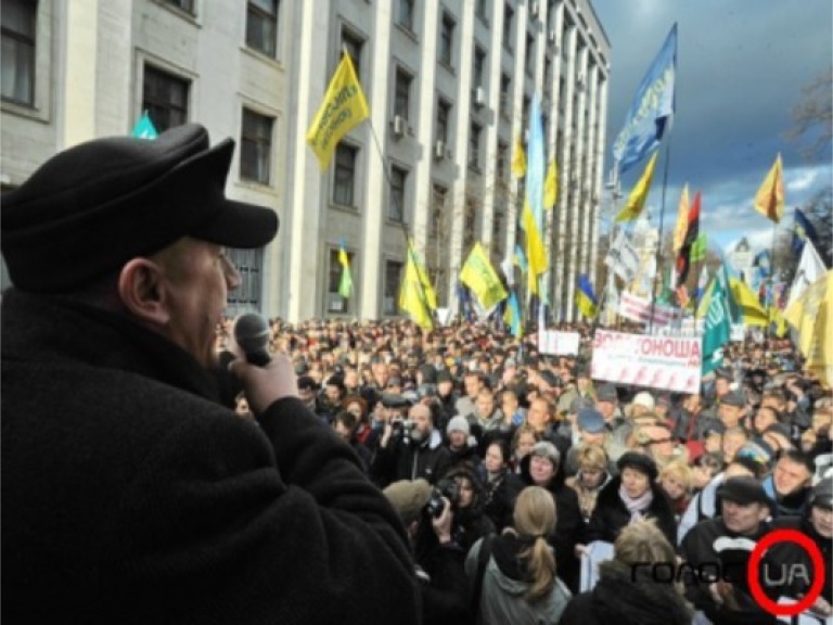
[[[431,407],[416,404],[408,411],[408,419],[384,423],[371,472],[383,488],[398,480],[419,477],[434,484],[450,462],[443,434],[434,428]]]

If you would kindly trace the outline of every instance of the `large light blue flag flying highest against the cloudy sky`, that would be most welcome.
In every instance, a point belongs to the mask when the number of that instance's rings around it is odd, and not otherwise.
[[[639,84],[625,126],[613,144],[613,160],[620,174],[659,146],[674,115],[676,72],[677,24]]]

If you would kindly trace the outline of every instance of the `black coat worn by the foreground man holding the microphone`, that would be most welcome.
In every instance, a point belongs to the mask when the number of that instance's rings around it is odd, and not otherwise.
[[[415,623],[396,512],[295,398],[257,423],[132,321],[2,302],[2,621]]]

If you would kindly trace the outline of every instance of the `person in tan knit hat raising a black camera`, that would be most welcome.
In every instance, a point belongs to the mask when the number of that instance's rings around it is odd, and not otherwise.
[[[465,551],[453,540],[453,506],[425,480],[400,480],[384,495],[405,524],[415,559],[422,596],[422,622],[470,624]]]

